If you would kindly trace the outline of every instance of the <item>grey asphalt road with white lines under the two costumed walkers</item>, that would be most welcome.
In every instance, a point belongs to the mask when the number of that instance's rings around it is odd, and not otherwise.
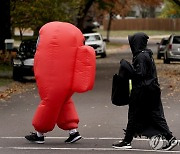
[[[155,51],[156,47],[151,45]],[[24,136],[34,131],[31,120],[39,103],[37,89],[15,94],[10,99],[0,102],[0,154],[139,154],[156,153],[151,150],[148,140],[137,138],[133,141],[133,149],[116,150],[112,143],[120,140],[123,128],[127,124],[128,107],[116,107],[111,104],[112,76],[118,71],[120,59],[131,60],[129,49],[110,51],[108,57],[97,58],[96,81],[92,91],[74,94],[73,100],[79,113],[79,132],[83,139],[75,144],[65,144],[68,132],[55,128],[46,134],[45,144],[29,143]],[[35,84],[35,83],[34,83]],[[178,95],[177,95],[178,97]],[[180,100],[167,99],[164,104],[165,115],[171,131],[180,139]],[[158,151],[165,153],[165,151]],[[167,153],[180,153],[177,146]]]

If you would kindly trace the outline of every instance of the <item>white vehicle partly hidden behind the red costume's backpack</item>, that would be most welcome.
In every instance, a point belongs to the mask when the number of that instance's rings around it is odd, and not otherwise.
[[[85,45],[93,47],[96,55],[100,55],[102,58],[106,57],[106,42],[100,33],[87,33],[84,34],[84,37]]]

